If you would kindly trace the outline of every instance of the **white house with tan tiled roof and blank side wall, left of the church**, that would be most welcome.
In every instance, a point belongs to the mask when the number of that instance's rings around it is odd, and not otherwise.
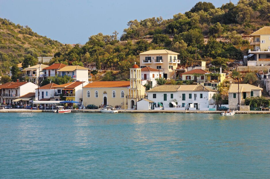
[[[58,76],[67,75],[74,81],[89,81],[91,76],[88,75],[88,71],[88,68],[79,65],[65,66],[60,70],[57,70]]]

